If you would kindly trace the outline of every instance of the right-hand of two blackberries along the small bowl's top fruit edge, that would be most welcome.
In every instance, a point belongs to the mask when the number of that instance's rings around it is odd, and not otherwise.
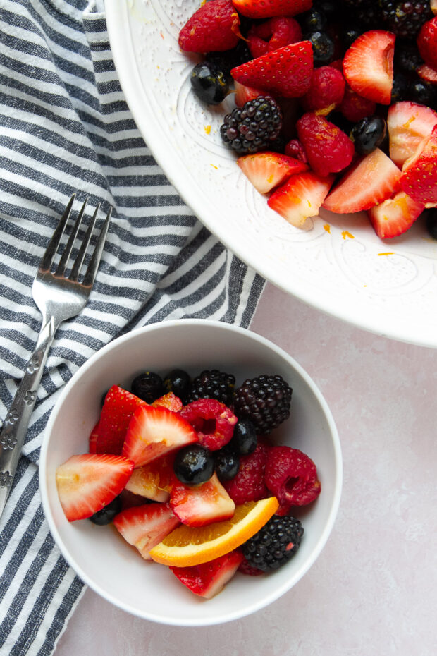
[[[249,419],[257,434],[265,435],[289,417],[292,392],[278,375],[247,379],[235,391],[235,415],[239,419]]]

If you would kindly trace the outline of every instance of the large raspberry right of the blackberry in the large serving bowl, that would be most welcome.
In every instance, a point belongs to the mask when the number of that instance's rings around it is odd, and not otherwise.
[[[309,166],[316,175],[326,177],[338,173],[352,162],[355,153],[352,141],[324,116],[304,114],[296,126]]]

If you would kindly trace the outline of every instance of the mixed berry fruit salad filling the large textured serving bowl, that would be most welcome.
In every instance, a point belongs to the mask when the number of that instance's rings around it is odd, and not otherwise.
[[[221,139],[294,226],[367,212],[380,238],[437,233],[437,2],[207,0],[179,46]]]

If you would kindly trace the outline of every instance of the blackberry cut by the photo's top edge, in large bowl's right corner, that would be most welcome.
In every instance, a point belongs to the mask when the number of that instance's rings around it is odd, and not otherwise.
[[[433,18],[429,0],[379,0],[381,16],[390,32],[414,39],[426,20]]]

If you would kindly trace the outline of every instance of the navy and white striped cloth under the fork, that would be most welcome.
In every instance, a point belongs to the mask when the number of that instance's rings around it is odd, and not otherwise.
[[[32,280],[73,191],[114,207],[84,312],[61,326],[0,520],[0,654],[47,656],[80,598],[44,521],[42,432],[59,391],[114,337],[178,317],[247,327],[264,281],[192,216],[144,144],[89,0],[0,0],[0,415],[39,332]]]

